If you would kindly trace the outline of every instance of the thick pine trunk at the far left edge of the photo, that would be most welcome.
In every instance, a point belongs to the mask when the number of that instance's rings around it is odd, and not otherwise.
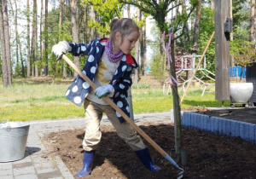
[[[9,43],[8,8],[6,0],[0,0],[0,27],[3,86],[10,86],[12,84],[11,56]]]

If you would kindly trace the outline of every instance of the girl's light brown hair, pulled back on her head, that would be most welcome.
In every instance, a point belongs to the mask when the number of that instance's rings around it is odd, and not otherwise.
[[[122,18],[122,19],[113,19],[110,24],[110,39],[114,41],[114,35],[116,32],[120,32],[122,42],[126,35],[129,35],[133,31],[137,31],[139,33],[139,28],[137,24],[129,19],[129,18]]]

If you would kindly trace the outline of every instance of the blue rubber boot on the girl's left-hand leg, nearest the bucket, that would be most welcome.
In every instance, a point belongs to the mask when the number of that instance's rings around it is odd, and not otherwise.
[[[88,176],[91,172],[92,161],[94,158],[95,151],[84,151],[83,168],[77,173],[77,177]]]

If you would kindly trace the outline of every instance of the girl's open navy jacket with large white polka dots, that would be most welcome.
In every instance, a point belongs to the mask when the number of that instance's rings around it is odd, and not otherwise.
[[[84,65],[83,73],[91,81],[94,81],[96,75],[96,69],[99,61],[102,60],[102,54],[104,52],[105,44],[108,39],[95,39],[90,44],[84,43],[69,43],[72,50],[69,51],[74,56],[88,55],[87,62]],[[133,68],[137,68],[137,62],[131,55],[124,55],[119,63],[116,72],[109,84],[113,86],[114,94],[111,98],[113,102],[130,117],[130,108],[127,102],[127,90],[131,87],[131,72]],[[72,101],[75,105],[81,106],[91,87],[84,81],[79,75],[74,79],[73,83],[67,89],[66,96],[69,101]],[[125,122],[125,119],[116,112],[120,123]]]

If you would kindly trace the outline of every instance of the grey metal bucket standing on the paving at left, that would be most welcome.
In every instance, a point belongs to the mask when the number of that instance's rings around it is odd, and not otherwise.
[[[0,123],[0,162],[25,157],[29,124],[25,122]]]

